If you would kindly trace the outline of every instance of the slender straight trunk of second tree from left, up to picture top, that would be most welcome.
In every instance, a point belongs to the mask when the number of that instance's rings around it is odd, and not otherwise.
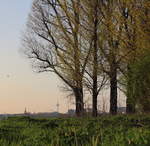
[[[98,61],[97,61],[97,53],[98,53],[98,47],[97,47],[97,27],[98,27],[98,1],[95,1],[94,6],[94,49],[93,49],[93,100],[92,100],[92,115],[93,117],[97,117],[97,70],[98,70]]]

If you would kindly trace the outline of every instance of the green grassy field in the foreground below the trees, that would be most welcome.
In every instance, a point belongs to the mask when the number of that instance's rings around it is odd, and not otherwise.
[[[1,146],[149,146],[150,115],[99,118],[10,117],[0,121]]]

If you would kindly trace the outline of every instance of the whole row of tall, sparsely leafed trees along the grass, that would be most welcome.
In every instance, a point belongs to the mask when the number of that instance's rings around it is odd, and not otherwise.
[[[55,73],[73,92],[77,116],[84,113],[87,91],[97,116],[105,86],[111,114],[117,113],[118,88],[127,95],[127,112],[135,112],[139,100],[132,90],[140,83],[133,85],[138,77],[132,68],[150,51],[149,8],[148,0],[34,0],[24,53],[38,72]]]

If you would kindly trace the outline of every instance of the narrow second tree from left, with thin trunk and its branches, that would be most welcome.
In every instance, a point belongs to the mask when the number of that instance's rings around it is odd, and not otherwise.
[[[101,1],[100,0],[83,0],[81,3],[84,18],[81,25],[87,30],[86,38],[91,40],[89,59],[84,74],[85,88],[92,95],[92,115],[97,116],[97,98],[100,90],[105,85],[107,78],[106,74],[100,68],[102,58],[99,49],[100,29],[101,29]]]

